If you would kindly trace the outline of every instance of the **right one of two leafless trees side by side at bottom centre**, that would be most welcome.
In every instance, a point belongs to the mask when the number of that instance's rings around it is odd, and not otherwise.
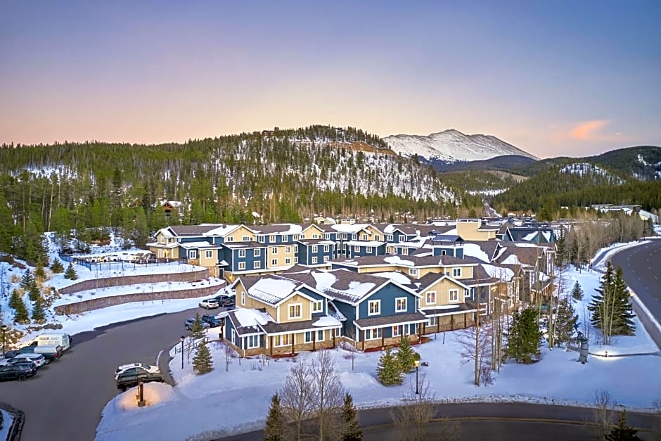
[[[319,440],[330,435],[331,429],[340,428],[340,410],[344,404],[345,388],[335,371],[333,352],[320,350],[312,360],[312,411],[319,423]]]

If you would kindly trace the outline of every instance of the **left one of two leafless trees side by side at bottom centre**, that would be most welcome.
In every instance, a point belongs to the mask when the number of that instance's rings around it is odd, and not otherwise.
[[[285,385],[280,392],[280,404],[285,420],[293,423],[290,427],[293,433],[288,439],[300,440],[303,422],[312,415],[312,382],[312,370],[304,360],[291,366],[285,378]]]

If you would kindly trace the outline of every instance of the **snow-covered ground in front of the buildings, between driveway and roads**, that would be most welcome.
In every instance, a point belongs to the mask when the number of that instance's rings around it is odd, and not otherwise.
[[[596,271],[565,273],[566,290],[570,292],[575,281],[584,290],[583,302],[574,302],[579,320],[583,307],[598,286],[601,274]],[[435,340],[417,346],[421,359],[429,366],[421,367],[421,375],[430,382],[432,392],[439,401],[523,401],[554,404],[586,405],[593,401],[599,389],[608,390],[619,404],[633,408],[649,408],[653,400],[661,397],[661,357],[641,355],[657,352],[658,348],[636,319],[636,335],[615,338],[606,349],[591,345],[590,352],[599,354],[629,354],[625,357],[589,356],[586,364],[578,362],[577,352],[556,348],[542,350],[540,362],[532,365],[508,362],[499,374],[494,374],[492,385],[473,385],[470,364],[462,364],[460,345],[456,342],[458,331],[442,333]],[[210,331],[210,338],[216,338]],[[433,338],[433,336],[432,336]],[[591,330],[591,343],[598,341],[598,334]],[[181,353],[174,352],[170,370],[177,381],[171,393],[167,385],[150,385],[146,388],[148,407],[134,405],[135,390],[129,390],[111,400],[103,410],[97,428],[97,440],[184,440],[210,439],[231,433],[241,433],[260,428],[270,403],[271,395],[283,385],[283,380],[293,363],[314,357],[304,352],[295,359],[271,360],[262,364],[259,358],[233,359],[229,371],[225,371],[224,352],[217,342],[210,344],[214,359],[214,371],[196,376],[188,359],[181,369]],[[409,391],[415,374],[409,374],[404,385],[385,387],[376,380],[379,352],[359,353],[355,368],[345,350],[332,350],[335,369],[345,388],[359,407],[379,407],[398,404],[402,395]],[[153,390],[158,388],[158,390]],[[203,435],[200,435],[203,434]]]

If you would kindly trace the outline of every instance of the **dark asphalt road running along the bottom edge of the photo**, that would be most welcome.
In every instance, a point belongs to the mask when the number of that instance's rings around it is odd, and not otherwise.
[[[396,440],[399,428],[392,426],[392,409],[359,411],[364,440]],[[590,440],[592,409],[528,403],[457,403],[438,404],[436,418],[459,421],[461,440]],[[644,431],[661,427],[661,417],[627,412],[630,426]],[[617,418],[615,418],[617,421]],[[430,428],[446,423],[431,423]],[[644,435],[645,432],[641,433]],[[261,430],[223,438],[223,441],[262,440]]]

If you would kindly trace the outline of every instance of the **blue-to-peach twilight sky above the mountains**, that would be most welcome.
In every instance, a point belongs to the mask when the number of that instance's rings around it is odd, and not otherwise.
[[[2,1],[0,143],[331,124],[661,146],[660,1]]]

